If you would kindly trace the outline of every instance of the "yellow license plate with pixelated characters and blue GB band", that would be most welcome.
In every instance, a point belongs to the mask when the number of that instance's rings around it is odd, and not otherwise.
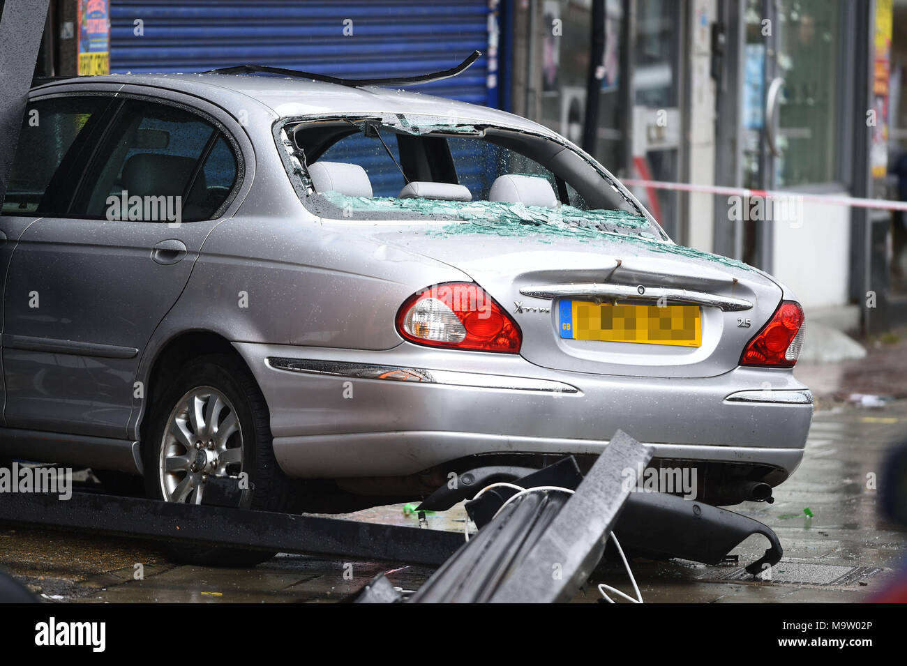
[[[561,301],[561,338],[608,343],[702,345],[698,305],[594,304]]]

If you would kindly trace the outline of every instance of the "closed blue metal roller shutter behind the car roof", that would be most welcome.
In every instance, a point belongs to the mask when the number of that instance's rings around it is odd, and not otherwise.
[[[444,70],[478,49],[483,58],[466,72],[417,90],[498,106],[488,87],[488,20],[488,0],[113,0],[111,72],[256,63],[372,78]]]

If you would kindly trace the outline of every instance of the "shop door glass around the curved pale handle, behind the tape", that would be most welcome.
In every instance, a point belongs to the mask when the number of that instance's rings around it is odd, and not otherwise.
[[[746,0],[743,185],[842,180],[842,0]],[[743,260],[771,268],[772,227],[743,223]]]

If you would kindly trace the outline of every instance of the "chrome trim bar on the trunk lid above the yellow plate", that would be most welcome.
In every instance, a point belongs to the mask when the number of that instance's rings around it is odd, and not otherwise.
[[[665,298],[668,301],[681,303],[695,303],[710,307],[719,307],[725,312],[740,312],[750,310],[753,304],[742,298],[695,292],[689,289],[672,289],[661,286],[630,286],[630,285],[602,285],[600,283],[585,283],[579,285],[532,285],[520,290],[524,296],[553,300],[564,297],[586,296],[592,299],[632,298],[635,300],[658,301]]]

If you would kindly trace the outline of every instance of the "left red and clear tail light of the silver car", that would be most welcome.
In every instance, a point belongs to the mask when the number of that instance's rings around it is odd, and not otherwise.
[[[482,287],[451,282],[426,287],[400,306],[397,332],[411,343],[477,352],[520,352],[522,333]]]

